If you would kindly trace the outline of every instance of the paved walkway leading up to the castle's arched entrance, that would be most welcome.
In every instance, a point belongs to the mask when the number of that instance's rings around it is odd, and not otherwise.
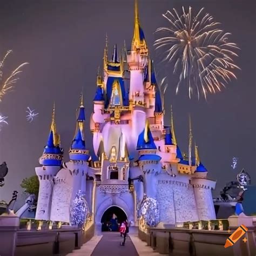
[[[141,241],[136,233],[127,235],[125,246],[120,246],[121,240],[119,233],[104,232],[103,235],[95,235],[79,250],[74,250],[66,256],[163,256]]]

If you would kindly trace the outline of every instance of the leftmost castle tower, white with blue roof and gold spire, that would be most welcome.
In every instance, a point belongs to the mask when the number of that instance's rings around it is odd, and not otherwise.
[[[49,138],[39,163],[42,167],[36,167],[36,174],[39,179],[39,193],[36,210],[36,219],[49,220],[51,213],[51,201],[53,191],[53,178],[62,165],[63,150],[60,148],[60,137],[56,132],[55,106],[52,110],[52,122]]]

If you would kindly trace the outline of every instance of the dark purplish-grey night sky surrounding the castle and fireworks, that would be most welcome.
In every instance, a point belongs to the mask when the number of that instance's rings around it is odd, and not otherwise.
[[[159,26],[168,25],[161,16],[167,10],[191,5],[199,11],[205,7],[221,28],[231,32],[231,41],[241,48],[237,64],[237,80],[226,90],[208,97],[207,102],[189,100],[187,90],[175,95],[178,76],[172,75],[169,64],[157,65],[160,78],[168,76],[165,97],[165,123],[170,122],[173,106],[176,137],[182,151],[188,148],[188,114],[191,113],[193,138],[199,156],[208,169],[208,177],[217,180],[218,194],[227,181],[235,179],[241,168],[256,183],[255,152],[255,3],[254,1],[218,0],[140,0],[140,24],[145,33],[151,56],[159,62],[153,48]],[[84,87],[86,110],[86,145],[92,149],[89,118],[96,91],[98,65],[103,64],[105,33],[112,45],[130,48],[133,33],[133,0],[122,1],[10,1],[0,5],[0,56],[9,56],[5,71],[22,62],[24,68],[16,89],[3,98],[0,112],[8,116],[8,126],[0,132],[0,161],[6,161],[9,173],[0,188],[0,200],[9,201],[13,190],[35,174],[38,158],[48,139],[51,111],[56,102],[57,129],[60,133],[65,160],[76,126],[79,93]],[[111,56],[109,56],[111,57]],[[26,107],[39,112],[34,122],[26,121]],[[238,167],[232,170],[232,157]]]

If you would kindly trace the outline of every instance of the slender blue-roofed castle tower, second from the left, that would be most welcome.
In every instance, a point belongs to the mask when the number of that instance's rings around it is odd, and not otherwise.
[[[90,155],[89,151],[86,150],[85,147],[84,122],[85,112],[83,95],[81,95],[75,137],[72,140],[69,150],[70,161],[66,164],[69,170],[72,171],[73,176],[73,193],[71,201],[73,198],[75,198],[78,190],[81,190],[83,193],[86,191],[86,173],[88,168],[87,161],[90,159]]]

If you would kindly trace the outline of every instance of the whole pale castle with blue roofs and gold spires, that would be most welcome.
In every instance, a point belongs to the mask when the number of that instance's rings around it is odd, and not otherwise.
[[[211,192],[215,181],[207,179],[196,146],[192,157],[191,127],[185,157],[177,144],[173,118],[170,126],[164,125],[163,98],[137,1],[131,50],[124,52],[118,55],[115,45],[109,60],[106,41],[90,118],[96,160],[86,150],[83,97],[67,162],[63,162],[53,108],[48,142],[39,159],[42,166],[36,167],[40,183],[36,219],[71,223],[78,192],[84,195],[96,225],[111,206],[121,208],[133,225],[139,218],[150,226],[215,219]]]

